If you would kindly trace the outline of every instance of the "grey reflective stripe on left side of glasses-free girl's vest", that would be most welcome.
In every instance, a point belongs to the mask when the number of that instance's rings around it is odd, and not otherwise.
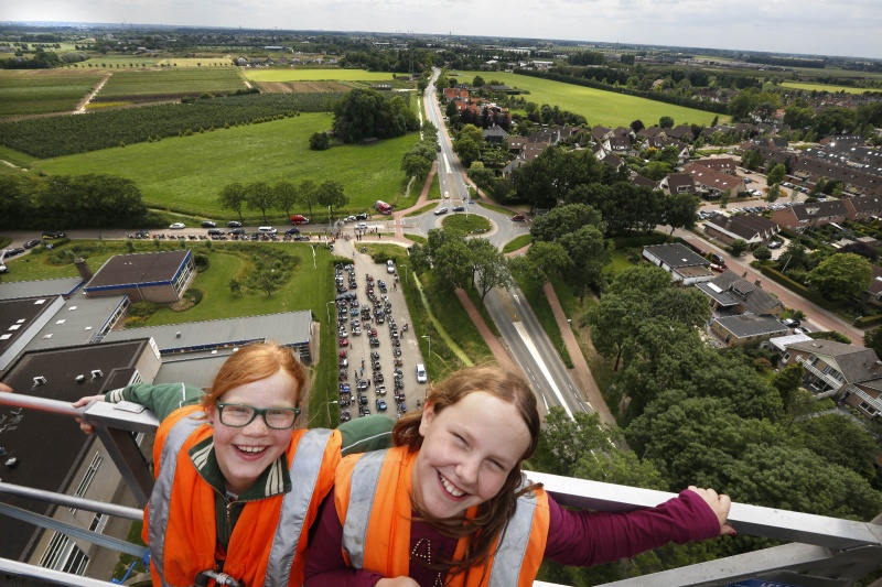
[[[349,566],[364,568],[365,541],[367,524],[370,522],[370,510],[374,496],[377,493],[379,471],[386,459],[387,450],[366,453],[352,471],[349,483],[349,503],[346,508],[346,521],[343,524],[343,550],[349,555]]]

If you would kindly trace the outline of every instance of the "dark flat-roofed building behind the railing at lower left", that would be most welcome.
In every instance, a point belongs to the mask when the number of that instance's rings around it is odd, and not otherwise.
[[[63,347],[22,355],[3,378],[15,393],[74,402],[130,383],[152,382],[160,367],[159,350],[150,340]],[[135,504],[104,445],[79,431],[69,416],[0,406],[0,446],[3,481],[95,501]],[[125,537],[130,522],[44,502],[0,494],[0,502],[51,517],[83,529]],[[100,547],[31,523],[3,518],[0,556],[46,568],[83,574]],[[112,564],[110,565],[112,568]]]

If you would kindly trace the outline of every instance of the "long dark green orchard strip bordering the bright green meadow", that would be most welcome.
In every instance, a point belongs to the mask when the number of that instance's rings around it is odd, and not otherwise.
[[[0,123],[0,144],[40,159],[86,153],[200,130],[327,112],[343,94],[249,94]],[[329,124],[330,127],[330,124]]]

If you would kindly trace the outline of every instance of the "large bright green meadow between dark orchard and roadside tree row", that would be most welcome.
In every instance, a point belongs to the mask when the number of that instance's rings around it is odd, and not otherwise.
[[[216,198],[233,182],[280,180],[294,183],[337,180],[349,197],[349,210],[365,210],[377,199],[396,204],[404,189],[401,157],[418,140],[411,133],[374,146],[335,146],[310,151],[312,133],[331,128],[332,117],[304,113],[193,137],[163,139],[35,162],[49,174],[109,173],[135,181],[149,206],[200,217],[234,218]],[[308,214],[308,210],[298,210]],[[319,210],[313,207],[318,216]],[[259,211],[247,211],[262,219]],[[278,219],[283,213],[271,213]]]

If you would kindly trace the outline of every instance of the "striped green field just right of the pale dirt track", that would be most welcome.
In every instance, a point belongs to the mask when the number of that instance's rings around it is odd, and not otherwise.
[[[114,72],[95,102],[148,102],[245,89],[234,67],[163,68]]]

